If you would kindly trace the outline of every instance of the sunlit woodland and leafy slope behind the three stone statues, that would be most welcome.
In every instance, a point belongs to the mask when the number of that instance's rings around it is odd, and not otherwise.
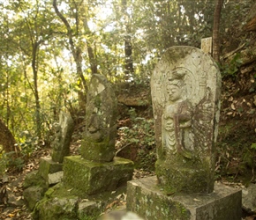
[[[117,92],[117,153],[154,170],[154,64],[169,47],[200,48],[213,36],[223,81],[216,173],[254,180],[254,9],[254,0],[0,0],[1,172],[49,149],[61,110],[76,123],[79,148],[94,73]]]

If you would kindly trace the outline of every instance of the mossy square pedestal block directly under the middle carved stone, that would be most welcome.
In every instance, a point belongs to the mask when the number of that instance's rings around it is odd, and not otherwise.
[[[64,158],[64,184],[86,194],[113,191],[132,180],[133,162],[114,158],[112,162],[96,163],[80,156]]]

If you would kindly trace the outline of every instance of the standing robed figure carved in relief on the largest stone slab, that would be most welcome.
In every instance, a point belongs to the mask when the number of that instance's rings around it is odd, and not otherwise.
[[[173,154],[182,153],[191,158],[192,104],[184,96],[184,73],[173,72],[166,84],[169,103],[162,114],[162,147]]]

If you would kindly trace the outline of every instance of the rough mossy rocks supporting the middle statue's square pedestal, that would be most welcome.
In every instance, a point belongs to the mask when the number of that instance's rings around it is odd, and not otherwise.
[[[43,199],[37,202],[32,216],[40,220],[97,220],[106,207],[125,192],[126,187],[119,187],[115,193],[87,195],[61,182],[50,187]]]

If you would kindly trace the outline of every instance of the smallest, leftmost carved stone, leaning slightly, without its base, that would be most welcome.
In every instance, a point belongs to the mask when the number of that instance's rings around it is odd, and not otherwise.
[[[65,156],[70,153],[70,144],[74,130],[74,122],[70,114],[61,112],[59,123],[55,126],[56,135],[51,146],[53,148],[51,158],[53,161],[62,163]]]

